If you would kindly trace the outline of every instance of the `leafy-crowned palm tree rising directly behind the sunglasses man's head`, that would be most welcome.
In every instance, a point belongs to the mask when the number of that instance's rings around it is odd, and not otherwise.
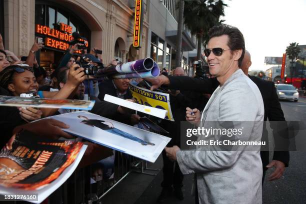
[[[201,47],[207,39],[207,31],[215,24],[221,23],[219,17],[224,15],[223,0],[185,0],[184,23],[191,34],[197,37],[197,59],[201,59]]]

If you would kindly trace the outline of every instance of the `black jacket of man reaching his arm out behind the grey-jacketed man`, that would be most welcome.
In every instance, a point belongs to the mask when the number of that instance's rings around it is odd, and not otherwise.
[[[192,90],[211,94],[219,85],[216,78],[201,79],[191,78],[188,76],[168,76],[168,78],[170,80],[168,87],[171,89]],[[264,105],[264,121],[267,119],[269,121],[285,121],[274,83],[271,81],[262,80],[255,76],[249,75],[249,78],[257,85],[261,93]],[[276,139],[277,138],[275,138],[275,140]],[[260,156],[262,166],[265,168],[265,166],[269,163],[269,152],[261,151]],[[272,159],[282,161],[285,166],[288,166],[289,152],[274,151]]]

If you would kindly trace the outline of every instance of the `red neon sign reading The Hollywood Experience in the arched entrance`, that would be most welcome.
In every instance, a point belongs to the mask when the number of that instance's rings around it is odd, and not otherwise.
[[[45,46],[52,47],[55,49],[66,50],[69,47],[69,44],[67,42],[73,39],[71,35],[72,27],[64,23],[59,24],[60,30],[50,28],[46,25],[36,24],[35,32],[45,35]],[[79,40],[84,41],[82,39]],[[85,43],[85,46],[88,47],[88,42]],[[75,52],[81,53],[80,50],[76,50]]]

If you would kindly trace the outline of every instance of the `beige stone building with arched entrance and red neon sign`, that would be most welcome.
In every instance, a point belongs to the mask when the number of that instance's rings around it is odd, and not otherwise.
[[[56,66],[72,32],[85,37],[87,48],[102,50],[104,64],[146,57],[147,3],[142,6],[142,44],[132,46],[135,0],[0,0],[0,31],[5,49],[27,56],[35,37],[44,47],[36,58],[44,67]],[[3,22],[3,23],[1,23]]]

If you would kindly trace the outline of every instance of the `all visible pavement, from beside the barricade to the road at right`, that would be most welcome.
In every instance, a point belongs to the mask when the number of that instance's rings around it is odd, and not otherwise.
[[[297,102],[280,101],[285,119],[287,121],[305,120],[306,98],[300,97]],[[270,155],[271,156],[271,155]],[[162,167],[161,156],[149,167]],[[291,151],[289,167],[285,169],[279,180],[268,181],[268,170],[262,186],[262,203],[306,203],[306,151]],[[153,172],[153,171],[151,171]],[[120,184],[102,198],[107,203],[156,203],[161,191],[162,171],[156,176],[130,173]],[[183,181],[184,200],[179,201],[174,196],[164,203],[194,203],[191,195],[193,174],[185,175]],[[120,195],[120,196],[115,196]]]

